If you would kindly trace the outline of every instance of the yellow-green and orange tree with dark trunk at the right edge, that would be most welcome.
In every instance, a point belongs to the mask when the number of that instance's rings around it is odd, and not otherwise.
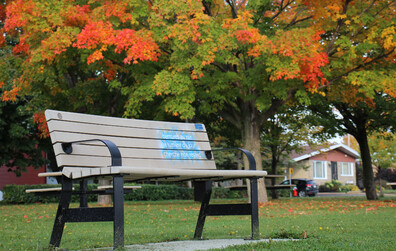
[[[328,84],[313,110],[359,143],[367,199],[376,199],[368,135],[394,131],[395,1],[305,1],[322,34]],[[321,105],[327,105],[328,109]],[[319,108],[321,107],[321,108]],[[333,109],[337,112],[334,113]],[[326,111],[327,110],[327,111]]]

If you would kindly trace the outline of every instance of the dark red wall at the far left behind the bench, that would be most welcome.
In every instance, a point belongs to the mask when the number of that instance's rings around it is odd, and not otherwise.
[[[38,173],[45,172],[45,166],[38,169],[28,167],[27,172],[22,172],[20,177],[17,177],[14,172],[8,172],[7,167],[0,167],[0,190],[5,185],[16,184],[16,185],[33,185],[33,184],[45,184],[45,177],[38,177]]]

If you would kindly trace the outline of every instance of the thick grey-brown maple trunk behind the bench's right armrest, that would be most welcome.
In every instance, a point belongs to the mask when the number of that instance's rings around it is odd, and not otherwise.
[[[242,142],[243,147],[249,150],[256,160],[256,169],[263,170],[261,151],[260,151],[260,132],[261,125],[258,121],[257,109],[244,109],[242,112]],[[249,167],[248,160],[244,158],[245,168]],[[265,188],[264,179],[258,179],[258,201],[259,203],[268,202],[267,189]],[[250,192],[250,191],[249,191]]]

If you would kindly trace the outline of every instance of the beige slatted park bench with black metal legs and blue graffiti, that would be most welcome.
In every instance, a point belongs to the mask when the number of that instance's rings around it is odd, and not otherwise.
[[[112,221],[114,248],[124,246],[124,181],[193,181],[201,208],[194,238],[201,239],[206,216],[250,215],[252,238],[259,236],[257,179],[267,173],[256,169],[253,155],[242,151],[248,170],[216,169],[203,124],[135,120],[47,110],[45,112],[62,180],[59,206],[50,239],[59,247],[67,222]],[[230,150],[230,149],[228,149]],[[86,180],[109,178],[111,207],[90,208],[84,201]],[[210,204],[213,181],[247,178],[250,201]],[[79,208],[69,208],[73,182],[82,187]]]

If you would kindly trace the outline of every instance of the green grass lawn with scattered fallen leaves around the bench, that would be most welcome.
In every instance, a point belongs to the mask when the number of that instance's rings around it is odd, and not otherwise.
[[[221,202],[221,201],[219,201]],[[74,205],[76,206],[76,205]],[[191,240],[199,204],[127,202],[125,244]],[[0,250],[46,249],[57,205],[0,205]],[[248,216],[208,217],[204,238],[244,238]],[[298,241],[245,245],[229,250],[395,250],[396,196],[281,199],[260,206],[261,238]],[[61,248],[112,246],[112,223],[67,223]]]

